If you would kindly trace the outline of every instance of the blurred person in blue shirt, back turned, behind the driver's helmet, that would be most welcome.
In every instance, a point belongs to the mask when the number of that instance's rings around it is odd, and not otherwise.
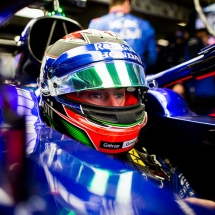
[[[157,60],[155,31],[147,20],[130,11],[131,0],[111,0],[109,13],[91,20],[88,28],[117,33],[139,54],[147,73]]]

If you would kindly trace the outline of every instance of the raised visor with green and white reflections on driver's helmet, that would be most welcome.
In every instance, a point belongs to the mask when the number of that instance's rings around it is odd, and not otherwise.
[[[147,87],[143,67],[125,61],[99,62],[61,78],[53,77],[48,85],[52,96],[92,89]]]

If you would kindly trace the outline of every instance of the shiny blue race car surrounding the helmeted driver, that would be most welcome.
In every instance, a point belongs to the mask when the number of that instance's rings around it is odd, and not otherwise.
[[[163,160],[150,161],[153,156],[149,156],[159,152],[170,158],[201,197],[214,199],[213,178],[205,174],[213,167],[214,118],[194,113],[182,96],[165,88],[167,84],[202,72],[198,65],[213,68],[209,61],[213,55],[211,48],[193,61],[146,77],[149,85],[152,84],[145,99],[149,120],[140,132],[139,148],[147,148],[149,154],[132,152],[129,158],[113,159],[70,138],[62,130],[56,131],[55,124],[44,123],[39,104],[41,95],[36,85],[44,47],[35,46],[33,38],[38,36],[36,29],[43,25],[48,29],[55,22],[68,22],[76,27],[73,30],[81,28],[66,18],[32,20],[20,40],[21,51],[15,58],[16,77],[2,79],[2,211],[7,214],[17,211],[20,214],[21,211],[32,214],[190,214],[188,211],[213,214],[204,207],[186,204],[179,195],[164,189],[168,173],[177,173],[177,170],[168,161],[165,161],[166,169],[161,168]],[[44,44],[51,45],[59,39],[53,36],[43,35],[44,40],[49,41]],[[10,84],[6,84],[8,82]],[[53,114],[49,107],[44,106],[44,111],[47,116]],[[143,160],[146,157],[148,160]],[[150,166],[150,171],[146,171],[141,161]],[[184,176],[174,176],[175,181],[178,178],[181,181],[173,183],[175,191],[192,196]],[[174,181],[174,177],[171,180]]]

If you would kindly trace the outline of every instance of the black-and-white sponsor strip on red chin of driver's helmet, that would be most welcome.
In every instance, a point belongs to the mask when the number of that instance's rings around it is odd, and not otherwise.
[[[113,149],[113,150],[122,149],[122,148],[128,148],[133,146],[135,142],[136,142],[136,138],[125,142],[116,142],[116,143],[101,141],[100,147],[103,149]]]

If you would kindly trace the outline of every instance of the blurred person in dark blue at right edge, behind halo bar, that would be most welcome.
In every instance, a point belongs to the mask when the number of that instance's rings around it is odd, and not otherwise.
[[[188,25],[186,32],[189,35],[185,43],[185,59],[190,60],[198,56],[201,49],[214,44],[215,40],[206,28],[193,29]],[[215,109],[215,76],[202,79],[191,79],[184,84],[186,99],[192,111],[201,115],[214,114]]]

